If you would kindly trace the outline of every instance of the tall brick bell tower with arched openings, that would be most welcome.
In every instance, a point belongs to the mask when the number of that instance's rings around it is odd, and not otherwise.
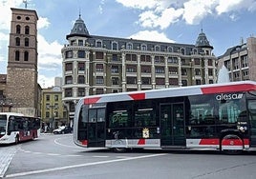
[[[35,10],[12,9],[7,95],[11,111],[37,116],[37,20]]]

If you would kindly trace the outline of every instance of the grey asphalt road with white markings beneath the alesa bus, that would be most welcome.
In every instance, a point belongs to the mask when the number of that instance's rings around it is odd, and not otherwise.
[[[42,135],[22,143],[6,178],[26,179],[227,179],[256,178],[256,153],[131,150],[76,147],[71,134]]]

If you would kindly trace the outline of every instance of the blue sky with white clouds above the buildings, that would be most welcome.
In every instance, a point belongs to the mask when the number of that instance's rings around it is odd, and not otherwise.
[[[7,73],[11,8],[24,0],[0,0],[0,73]],[[38,83],[53,86],[62,75],[61,49],[79,11],[89,33],[195,44],[203,29],[216,56],[256,32],[256,0],[27,0],[36,10]],[[4,15],[3,15],[4,14]]]

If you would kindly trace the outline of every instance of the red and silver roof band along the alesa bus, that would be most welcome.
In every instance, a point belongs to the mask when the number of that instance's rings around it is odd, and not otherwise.
[[[156,99],[164,97],[191,96],[198,94],[214,94],[223,92],[239,92],[256,90],[256,82],[240,81],[222,84],[197,85],[189,87],[178,87],[168,89],[150,89],[130,92],[109,93],[85,96],[81,100],[83,104],[107,103],[116,101]]]

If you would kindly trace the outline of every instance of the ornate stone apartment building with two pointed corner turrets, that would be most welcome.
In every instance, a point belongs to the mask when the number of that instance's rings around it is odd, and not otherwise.
[[[203,30],[195,44],[164,43],[89,34],[79,15],[66,36],[63,102],[72,120],[82,96],[164,89],[217,80],[216,60]]]

